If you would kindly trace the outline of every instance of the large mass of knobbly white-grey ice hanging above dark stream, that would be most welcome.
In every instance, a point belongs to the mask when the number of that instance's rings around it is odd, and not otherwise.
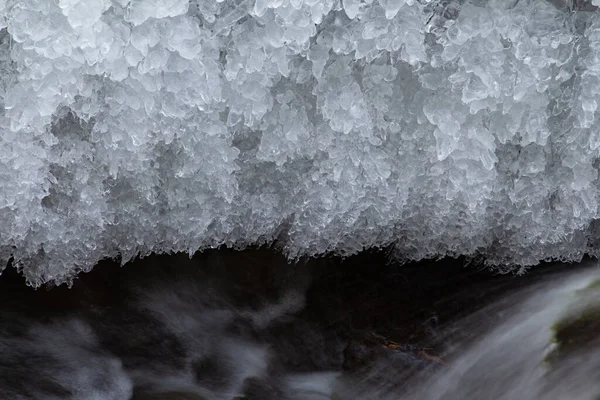
[[[598,255],[596,3],[0,0],[0,257]]]

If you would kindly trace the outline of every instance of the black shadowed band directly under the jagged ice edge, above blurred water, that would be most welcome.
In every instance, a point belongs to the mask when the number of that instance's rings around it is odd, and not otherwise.
[[[70,313],[82,315],[126,307],[134,289],[179,281],[210,282],[227,293],[234,306],[259,306],[281,295],[293,276],[307,288],[297,318],[315,319],[339,334],[375,330],[398,340],[420,342],[448,321],[494,301],[503,293],[581,265],[542,264],[525,275],[499,275],[463,258],[390,263],[386,251],[365,251],[341,259],[324,257],[289,263],[269,248],[218,249],[187,254],[152,255],[125,266],[100,262],[81,274],[72,288],[32,289],[8,267],[0,276],[4,312],[22,312],[40,320]]]

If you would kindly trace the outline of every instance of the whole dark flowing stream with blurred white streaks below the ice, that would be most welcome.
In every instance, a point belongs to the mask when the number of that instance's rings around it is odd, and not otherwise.
[[[3,276],[0,399],[600,395],[595,342],[548,362],[552,327],[600,297],[581,296],[595,267],[479,278],[467,268],[223,260],[100,266],[72,289],[46,291]]]

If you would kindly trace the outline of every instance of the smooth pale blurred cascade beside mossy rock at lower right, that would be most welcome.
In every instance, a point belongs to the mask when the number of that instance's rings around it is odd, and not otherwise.
[[[450,366],[420,382],[406,399],[581,399],[600,396],[600,347],[584,347],[566,360],[548,364],[554,348],[552,326],[569,315],[578,291],[600,277],[597,268],[561,274],[509,296],[459,324],[479,336],[457,346]],[[594,294],[600,299],[600,292]],[[481,332],[489,314],[500,322]]]

